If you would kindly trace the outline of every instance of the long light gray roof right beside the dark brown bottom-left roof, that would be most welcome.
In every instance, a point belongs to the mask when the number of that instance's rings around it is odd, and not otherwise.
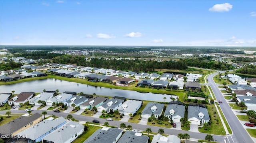
[[[54,119],[53,121],[44,120],[28,129],[25,129],[17,135],[25,135],[28,139],[34,141],[38,137],[41,137],[45,133],[48,133],[50,130],[52,130],[52,128],[55,128],[62,123],[66,123],[66,119],[64,119],[63,117],[59,117],[57,119]]]

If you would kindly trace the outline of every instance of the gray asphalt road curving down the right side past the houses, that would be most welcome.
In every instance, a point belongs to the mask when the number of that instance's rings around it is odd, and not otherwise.
[[[221,73],[223,72],[225,71],[222,71]],[[254,143],[251,136],[247,133],[246,129],[244,129],[243,125],[240,123],[240,121],[226,102],[225,98],[222,96],[222,93],[218,89],[218,85],[215,84],[213,77],[216,74],[218,74],[218,72],[210,74],[207,79],[208,85],[211,86],[216,100],[222,100],[220,108],[222,109],[222,112],[232,129],[232,135],[227,136],[227,143]]]

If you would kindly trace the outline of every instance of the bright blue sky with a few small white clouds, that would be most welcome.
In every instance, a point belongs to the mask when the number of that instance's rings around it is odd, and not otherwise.
[[[256,1],[0,0],[0,44],[256,46]]]

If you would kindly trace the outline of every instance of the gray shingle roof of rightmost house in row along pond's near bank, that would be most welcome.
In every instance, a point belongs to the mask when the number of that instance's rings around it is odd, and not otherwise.
[[[204,120],[209,120],[209,114],[208,114],[208,110],[206,108],[202,108],[202,107],[198,107],[198,106],[188,106],[188,119],[190,118],[197,118],[199,120],[201,120],[198,116],[198,114],[202,112],[202,114],[204,114]]]

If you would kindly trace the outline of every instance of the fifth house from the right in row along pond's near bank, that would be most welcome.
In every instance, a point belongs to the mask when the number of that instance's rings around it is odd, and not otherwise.
[[[105,110],[106,112],[110,112],[111,110],[112,112],[114,112],[123,103],[124,103],[124,100],[122,99],[111,98],[106,100],[106,102],[103,103],[102,105],[98,106],[97,111],[102,112],[102,110]]]

